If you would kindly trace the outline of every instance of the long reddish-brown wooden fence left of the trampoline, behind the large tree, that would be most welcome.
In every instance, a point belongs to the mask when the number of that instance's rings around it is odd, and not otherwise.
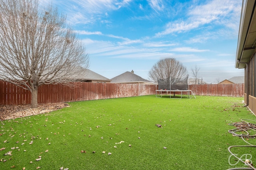
[[[156,85],[74,82],[72,87],[44,84],[38,89],[38,103],[74,102],[155,94]],[[0,81],[0,105],[30,104],[31,92]]]

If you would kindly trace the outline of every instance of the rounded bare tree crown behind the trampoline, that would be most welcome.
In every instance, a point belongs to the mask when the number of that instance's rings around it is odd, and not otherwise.
[[[149,71],[149,77],[154,82],[159,79],[171,79],[172,83],[176,83],[188,76],[188,71],[182,63],[175,58],[160,59]]]

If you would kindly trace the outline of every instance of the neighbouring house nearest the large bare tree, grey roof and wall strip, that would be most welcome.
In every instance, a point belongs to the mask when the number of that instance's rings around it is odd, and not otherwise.
[[[93,72],[92,70],[78,66],[76,69],[80,70],[79,73],[76,73],[72,77],[81,82],[94,82],[94,83],[110,83],[110,79]],[[76,71],[77,72],[77,71]]]

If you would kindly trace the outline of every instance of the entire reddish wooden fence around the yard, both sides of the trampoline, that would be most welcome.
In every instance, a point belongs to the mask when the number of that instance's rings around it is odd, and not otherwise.
[[[156,85],[74,82],[74,87],[45,84],[38,89],[38,103],[74,102],[155,94]],[[189,85],[195,95],[244,96],[244,84]],[[178,93],[177,93],[178,94]],[[31,93],[11,83],[0,81],[0,105],[30,104]]]

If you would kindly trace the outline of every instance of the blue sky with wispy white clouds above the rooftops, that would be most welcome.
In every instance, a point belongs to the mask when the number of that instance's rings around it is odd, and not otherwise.
[[[90,70],[148,79],[160,59],[200,67],[206,82],[244,76],[235,68],[242,0],[41,0],[53,2],[79,34]]]

